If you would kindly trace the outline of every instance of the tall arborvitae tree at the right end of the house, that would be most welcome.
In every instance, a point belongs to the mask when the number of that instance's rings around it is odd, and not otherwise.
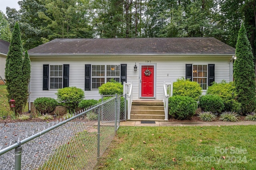
[[[242,24],[236,43],[236,61],[234,62],[234,82],[238,92],[238,102],[241,103],[242,114],[254,111],[256,85],[252,47]]]

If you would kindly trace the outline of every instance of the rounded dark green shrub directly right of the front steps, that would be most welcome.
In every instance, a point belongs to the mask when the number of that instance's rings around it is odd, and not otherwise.
[[[184,120],[194,116],[197,102],[191,97],[174,96],[169,98],[169,115],[175,119]]]

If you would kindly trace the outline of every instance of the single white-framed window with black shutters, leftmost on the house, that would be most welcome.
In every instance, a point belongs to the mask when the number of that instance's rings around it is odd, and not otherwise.
[[[50,65],[50,89],[62,88],[63,65]]]

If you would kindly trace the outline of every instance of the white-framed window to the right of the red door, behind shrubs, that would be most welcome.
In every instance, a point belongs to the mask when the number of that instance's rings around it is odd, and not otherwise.
[[[193,65],[192,81],[197,82],[203,90],[207,89],[207,65]]]

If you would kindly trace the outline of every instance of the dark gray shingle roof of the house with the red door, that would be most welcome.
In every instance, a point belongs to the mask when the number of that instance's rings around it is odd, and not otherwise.
[[[61,54],[234,54],[215,38],[55,39],[28,50],[30,55]]]

